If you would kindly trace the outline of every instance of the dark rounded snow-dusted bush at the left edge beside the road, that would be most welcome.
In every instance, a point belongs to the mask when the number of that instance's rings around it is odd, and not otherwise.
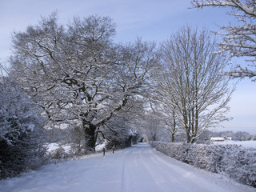
[[[0,82],[0,178],[45,162],[43,119],[37,108],[14,85]]]

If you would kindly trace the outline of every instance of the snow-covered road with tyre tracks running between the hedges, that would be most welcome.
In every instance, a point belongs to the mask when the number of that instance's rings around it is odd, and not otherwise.
[[[110,192],[246,192],[219,174],[205,173],[159,153],[147,144],[61,162],[0,181],[0,191],[110,191]]]

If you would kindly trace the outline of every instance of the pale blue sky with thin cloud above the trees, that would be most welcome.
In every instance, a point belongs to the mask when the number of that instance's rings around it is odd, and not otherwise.
[[[0,62],[10,56],[11,34],[37,24],[42,16],[58,11],[59,22],[66,24],[74,16],[90,14],[110,16],[117,25],[115,41],[129,42],[137,37],[161,42],[182,26],[216,31],[218,26],[235,23],[226,9],[188,9],[190,0],[1,0]],[[217,26],[218,25],[218,26]],[[238,59],[242,61],[242,59]],[[234,62],[236,62],[234,60]],[[256,134],[256,82],[243,79],[230,101],[233,120],[218,130],[245,130]]]

